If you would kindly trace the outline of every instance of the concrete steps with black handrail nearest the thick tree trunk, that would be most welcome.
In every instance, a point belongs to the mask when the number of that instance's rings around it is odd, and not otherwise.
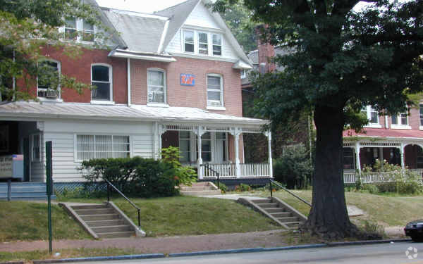
[[[295,230],[307,220],[307,218],[298,212],[287,203],[281,201],[276,197],[269,197],[267,199],[250,200],[245,198],[238,199],[239,203],[249,206],[259,213],[266,215],[277,222],[287,230]]]

